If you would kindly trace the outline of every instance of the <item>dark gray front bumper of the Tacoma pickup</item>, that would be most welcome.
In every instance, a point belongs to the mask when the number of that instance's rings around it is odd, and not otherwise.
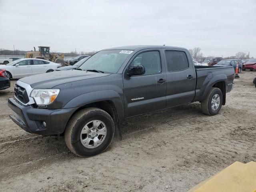
[[[68,120],[77,108],[40,109],[24,106],[14,98],[8,99],[8,106],[15,112],[10,118],[27,132],[40,135],[62,134]],[[46,127],[42,125],[46,122]]]

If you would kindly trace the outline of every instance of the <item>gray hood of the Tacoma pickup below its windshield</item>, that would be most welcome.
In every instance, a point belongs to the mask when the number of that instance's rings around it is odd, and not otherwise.
[[[81,70],[64,70],[28,76],[20,79],[20,81],[29,84],[32,88],[47,89],[60,84],[91,78],[99,78],[108,75],[110,74],[88,72]]]

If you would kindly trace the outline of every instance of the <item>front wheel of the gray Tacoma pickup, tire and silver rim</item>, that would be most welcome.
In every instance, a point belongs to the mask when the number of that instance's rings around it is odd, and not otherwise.
[[[64,133],[69,150],[80,157],[106,150],[114,137],[114,121],[99,108],[80,110],[68,122]]]

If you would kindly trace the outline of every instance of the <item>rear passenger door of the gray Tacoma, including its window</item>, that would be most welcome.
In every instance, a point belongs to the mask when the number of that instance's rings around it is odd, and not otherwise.
[[[167,90],[166,106],[192,102],[196,89],[196,71],[186,50],[165,50]]]

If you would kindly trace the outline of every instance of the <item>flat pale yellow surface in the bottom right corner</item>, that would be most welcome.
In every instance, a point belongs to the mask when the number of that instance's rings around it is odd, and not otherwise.
[[[256,192],[256,162],[234,162],[189,192]]]

